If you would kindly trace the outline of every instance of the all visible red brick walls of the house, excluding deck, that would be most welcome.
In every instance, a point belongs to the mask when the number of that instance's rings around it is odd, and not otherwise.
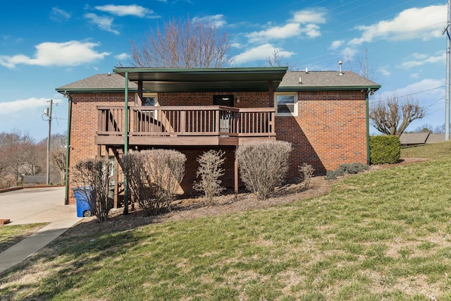
[[[159,93],[159,104],[164,105],[212,105],[213,95],[233,94],[236,107],[266,107],[268,92],[198,92]],[[278,140],[292,142],[290,157],[292,176],[297,166],[311,164],[316,173],[336,169],[342,163],[366,163],[366,113],[364,92],[360,91],[312,91],[299,92],[298,116],[277,116]],[[237,102],[240,99],[240,102]],[[70,128],[70,167],[78,160],[96,156],[94,135],[97,130],[98,105],[123,105],[121,93],[74,94]],[[135,95],[130,94],[130,105]],[[210,147],[179,149],[186,154],[186,173],[183,188],[190,190],[196,180],[197,156]],[[234,147],[226,148],[226,175],[223,184],[233,187]],[[69,178],[70,180],[70,178]],[[70,202],[73,203],[70,191]]]

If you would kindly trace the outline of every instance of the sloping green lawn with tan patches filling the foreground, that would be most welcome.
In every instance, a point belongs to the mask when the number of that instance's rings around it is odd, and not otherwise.
[[[442,156],[285,206],[80,233],[0,275],[0,300],[451,300],[450,201]]]

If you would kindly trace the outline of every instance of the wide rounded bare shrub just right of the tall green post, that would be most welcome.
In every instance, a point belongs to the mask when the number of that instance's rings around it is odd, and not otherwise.
[[[162,208],[171,211],[185,174],[186,156],[173,149],[130,151],[123,159],[130,195],[147,215],[156,215]]]

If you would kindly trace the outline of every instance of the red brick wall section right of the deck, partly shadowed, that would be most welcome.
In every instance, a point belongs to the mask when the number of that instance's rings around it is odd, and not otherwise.
[[[277,116],[278,140],[292,142],[290,172],[307,163],[316,173],[340,164],[366,164],[366,94],[360,91],[298,93],[298,116]]]

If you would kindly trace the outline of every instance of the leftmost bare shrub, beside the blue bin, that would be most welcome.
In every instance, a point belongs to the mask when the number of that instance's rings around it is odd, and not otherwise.
[[[73,167],[73,183],[85,194],[92,214],[101,223],[108,219],[112,208],[112,199],[108,198],[110,171],[111,166],[105,158],[80,160]]]

